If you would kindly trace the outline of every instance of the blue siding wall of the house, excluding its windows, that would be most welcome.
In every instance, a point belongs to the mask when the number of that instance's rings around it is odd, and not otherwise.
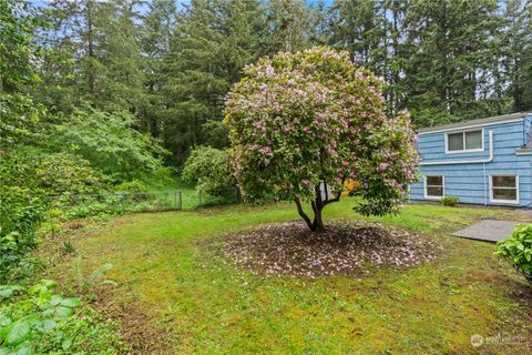
[[[467,153],[446,153],[446,132],[458,132],[463,129],[420,133],[418,150],[422,158],[421,164],[463,163],[420,165],[421,179],[410,186],[411,200],[427,200],[422,176],[443,175],[446,196],[459,196],[463,203],[501,205],[502,203],[490,202],[490,174],[518,174],[519,204],[511,205],[532,206],[532,154],[518,155],[515,152],[515,149],[526,143],[531,125],[532,116],[484,125],[483,150]],[[490,159],[490,132],[493,135],[493,160],[487,163],[466,163]]]

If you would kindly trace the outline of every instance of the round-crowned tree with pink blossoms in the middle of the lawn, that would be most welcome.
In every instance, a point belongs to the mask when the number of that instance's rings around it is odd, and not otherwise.
[[[416,134],[407,113],[387,115],[379,78],[329,48],[263,58],[244,73],[225,106],[244,197],[295,201],[308,227],[323,231],[324,207],[351,179],[358,212],[397,211],[417,175]]]

